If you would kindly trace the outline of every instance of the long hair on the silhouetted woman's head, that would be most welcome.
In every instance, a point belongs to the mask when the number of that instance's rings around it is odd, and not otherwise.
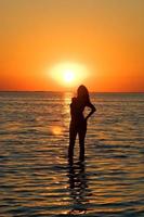
[[[84,101],[84,103],[90,102],[89,91],[86,86],[80,85],[77,90],[77,95],[80,100]]]

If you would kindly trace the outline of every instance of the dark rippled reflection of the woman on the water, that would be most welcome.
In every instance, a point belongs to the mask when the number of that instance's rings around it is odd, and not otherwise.
[[[83,162],[78,162],[77,165],[68,167],[68,187],[71,206],[69,215],[87,214],[89,209],[89,199],[91,191],[88,186],[88,177],[86,165]]]

